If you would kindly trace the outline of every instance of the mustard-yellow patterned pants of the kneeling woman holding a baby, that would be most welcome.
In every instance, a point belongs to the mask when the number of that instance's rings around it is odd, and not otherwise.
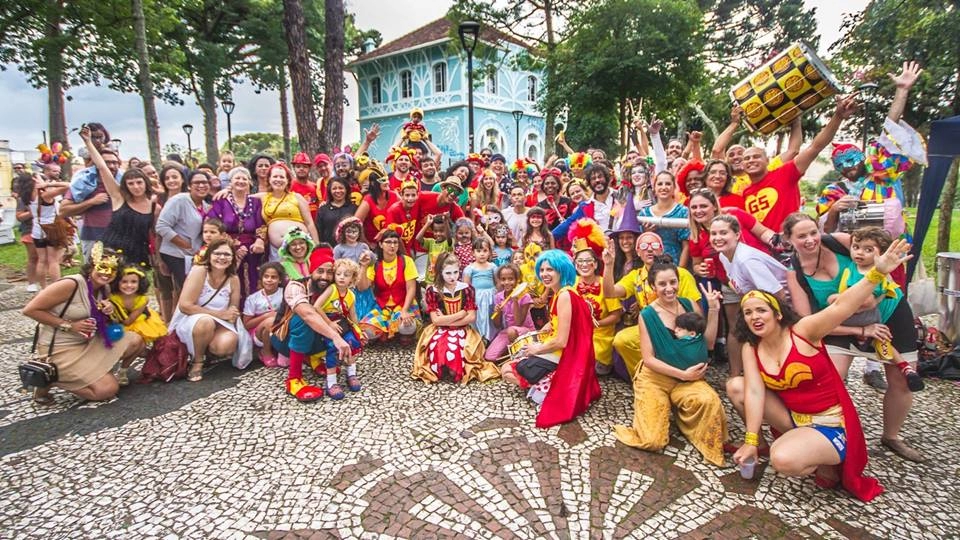
[[[649,368],[640,370],[633,379],[633,426],[614,426],[614,434],[623,444],[659,452],[670,439],[671,408],[680,432],[704,459],[723,465],[727,416],[720,396],[702,379],[684,382]]]

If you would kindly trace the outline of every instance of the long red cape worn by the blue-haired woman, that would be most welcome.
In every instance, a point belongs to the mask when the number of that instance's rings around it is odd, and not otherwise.
[[[537,415],[537,427],[548,428],[569,422],[600,398],[600,383],[594,372],[593,321],[590,306],[572,289],[570,294],[570,335],[560,355],[550,391]],[[562,294],[561,291],[560,294]]]

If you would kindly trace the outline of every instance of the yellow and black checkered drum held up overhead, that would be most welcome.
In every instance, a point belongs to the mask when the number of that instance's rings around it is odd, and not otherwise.
[[[730,90],[752,131],[769,135],[841,92],[833,73],[803,43],[795,43]]]

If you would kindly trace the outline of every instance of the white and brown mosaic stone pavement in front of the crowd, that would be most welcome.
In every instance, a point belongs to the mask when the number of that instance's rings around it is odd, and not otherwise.
[[[533,427],[501,382],[425,386],[411,353],[376,347],[365,388],[303,405],[280,370],[208,370],[199,384],[132,385],[40,408],[17,362],[33,326],[0,292],[0,537],[4,538],[946,538],[960,534],[955,385],[928,382],[904,436],[878,444],[879,395],[851,376],[887,493],[862,504],[761,463],[757,481],[705,464],[677,433],[663,454],[616,442],[629,389],[604,380],[578,421]],[[852,373],[858,373],[854,367]],[[711,369],[719,387],[720,373]],[[738,420],[731,436],[742,437]],[[765,470],[764,470],[765,469]]]

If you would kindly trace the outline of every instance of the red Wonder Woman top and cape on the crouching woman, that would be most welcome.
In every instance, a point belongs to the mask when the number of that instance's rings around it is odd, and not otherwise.
[[[780,373],[771,375],[764,371],[759,352],[754,349],[760,377],[793,413],[820,415],[832,407],[840,407],[841,422],[847,437],[847,455],[840,464],[840,482],[858,499],[869,502],[883,493],[883,486],[876,478],[863,475],[867,465],[867,443],[850,394],[826,349],[794,334],[792,329],[790,336],[793,347],[780,367]],[[817,353],[813,356],[801,354],[797,350],[797,338],[815,347]]]

